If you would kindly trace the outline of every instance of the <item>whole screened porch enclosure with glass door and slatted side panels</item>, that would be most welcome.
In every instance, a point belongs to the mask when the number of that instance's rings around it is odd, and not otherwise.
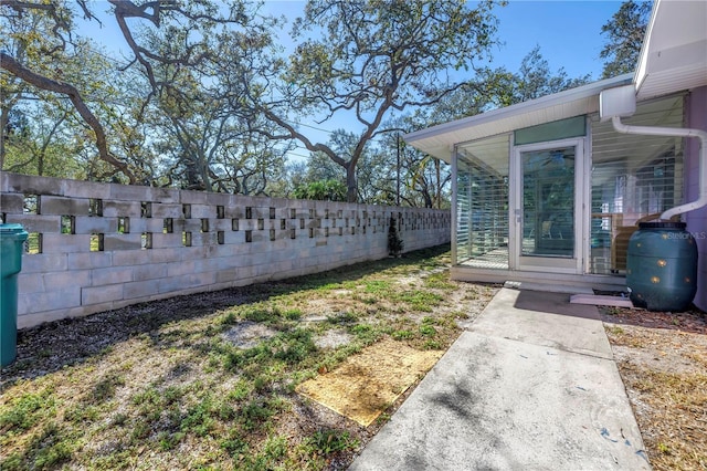
[[[680,127],[683,102],[641,103],[625,123]],[[585,136],[570,118],[535,146],[514,147],[518,129],[455,146],[456,265],[625,274],[637,223],[683,202],[683,139],[620,134],[597,114],[581,123]]]

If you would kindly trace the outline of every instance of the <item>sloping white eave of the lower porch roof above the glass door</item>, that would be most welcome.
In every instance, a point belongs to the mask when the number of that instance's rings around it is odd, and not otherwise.
[[[452,149],[456,144],[572,116],[597,113],[599,111],[599,93],[604,88],[630,84],[631,78],[633,78],[633,74],[624,74],[590,83],[529,102],[416,130],[404,135],[403,139],[411,146],[450,163]]]

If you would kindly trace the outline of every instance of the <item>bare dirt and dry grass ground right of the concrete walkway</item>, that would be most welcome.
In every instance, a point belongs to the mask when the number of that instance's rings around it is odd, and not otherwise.
[[[655,470],[707,470],[707,315],[600,308]]]

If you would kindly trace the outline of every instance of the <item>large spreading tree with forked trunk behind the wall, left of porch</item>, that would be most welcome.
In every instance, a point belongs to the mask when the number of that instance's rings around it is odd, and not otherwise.
[[[254,106],[285,129],[282,138],[297,139],[345,169],[347,199],[356,201],[357,170],[387,127],[384,118],[392,109],[432,105],[458,86],[439,80],[440,74],[468,70],[486,57],[495,44],[495,3],[482,1],[471,8],[445,0],[384,7],[376,0],[309,1],[294,24],[293,41],[298,45],[286,72],[263,78],[281,81],[277,101]],[[268,70],[275,69],[267,67],[265,75]],[[348,116],[354,124],[334,133],[329,142],[315,143],[288,126],[292,109],[307,117],[323,112],[327,118]]]

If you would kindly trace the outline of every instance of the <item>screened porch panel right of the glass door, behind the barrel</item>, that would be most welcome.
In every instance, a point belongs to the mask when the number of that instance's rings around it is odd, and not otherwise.
[[[684,95],[645,102],[623,122],[682,127]],[[592,116],[590,273],[625,274],[639,222],[682,205],[683,138],[619,134]]]

